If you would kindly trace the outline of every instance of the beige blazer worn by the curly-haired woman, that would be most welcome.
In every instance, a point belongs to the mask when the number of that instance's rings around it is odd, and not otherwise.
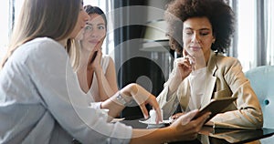
[[[174,67],[177,66],[174,64]],[[184,111],[190,99],[190,85],[187,78],[182,81],[174,94],[167,96],[171,77],[174,77],[174,70],[164,84],[163,91],[157,97],[160,108],[163,108],[163,118],[172,116],[179,103]],[[237,97],[236,102],[223,110],[224,113],[211,119],[216,128],[258,129],[262,127],[263,116],[258,98],[237,58],[211,52],[205,79],[206,85],[201,86],[205,87],[205,98],[202,98],[201,107],[208,104],[211,98]]]

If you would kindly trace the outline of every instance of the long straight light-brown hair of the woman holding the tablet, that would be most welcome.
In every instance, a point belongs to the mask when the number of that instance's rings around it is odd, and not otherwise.
[[[81,3],[81,0],[25,0],[0,69],[18,46],[32,39],[47,36],[58,41],[68,38],[76,26]]]

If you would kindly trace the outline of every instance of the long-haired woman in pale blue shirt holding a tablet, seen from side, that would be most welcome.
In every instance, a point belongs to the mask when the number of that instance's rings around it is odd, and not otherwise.
[[[66,48],[89,15],[80,0],[25,0],[0,73],[0,143],[163,143],[195,139],[203,115],[197,110],[163,129],[132,129],[97,115],[109,108],[116,116],[134,99],[145,117],[148,103],[161,113],[156,98],[131,84],[104,102],[83,95]],[[66,48],[65,48],[66,47]],[[90,102],[93,102],[90,106]]]

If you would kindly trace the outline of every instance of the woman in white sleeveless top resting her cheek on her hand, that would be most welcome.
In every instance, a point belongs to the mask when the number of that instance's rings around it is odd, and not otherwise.
[[[94,101],[104,101],[118,91],[114,62],[111,56],[101,52],[107,34],[107,18],[97,6],[85,5],[84,9],[90,19],[69,55],[83,92]]]

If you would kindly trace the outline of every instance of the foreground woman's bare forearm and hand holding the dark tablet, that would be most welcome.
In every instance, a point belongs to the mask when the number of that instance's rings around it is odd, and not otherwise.
[[[210,113],[190,120],[195,117],[198,110],[193,110],[176,119],[169,127],[161,129],[133,129],[130,143],[165,143],[172,141],[185,141],[196,139],[198,132],[204,125]]]

